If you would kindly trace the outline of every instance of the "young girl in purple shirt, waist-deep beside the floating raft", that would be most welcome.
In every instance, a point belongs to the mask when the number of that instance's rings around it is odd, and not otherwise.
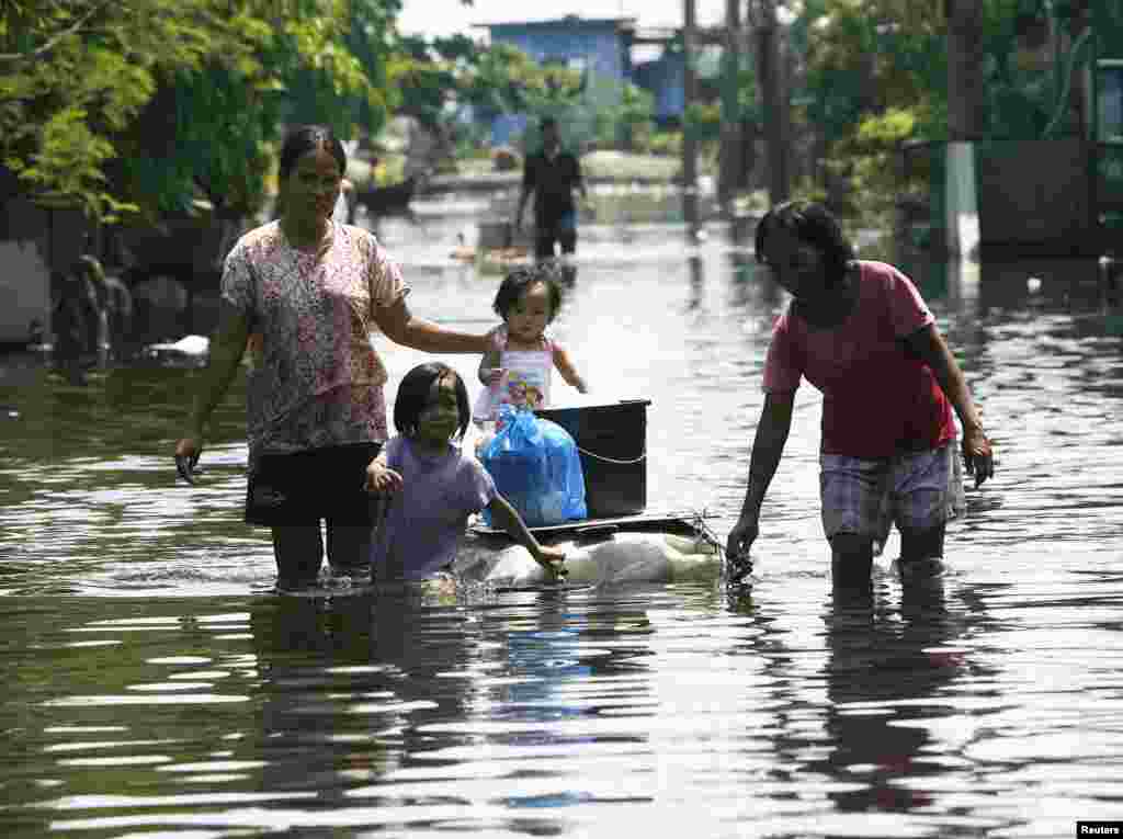
[[[371,546],[375,580],[423,580],[456,558],[468,516],[484,508],[554,577],[565,554],[539,545],[495,491],[483,465],[454,446],[471,419],[464,381],[446,364],[422,364],[402,379],[391,439],[368,471],[367,491],[387,495]]]

